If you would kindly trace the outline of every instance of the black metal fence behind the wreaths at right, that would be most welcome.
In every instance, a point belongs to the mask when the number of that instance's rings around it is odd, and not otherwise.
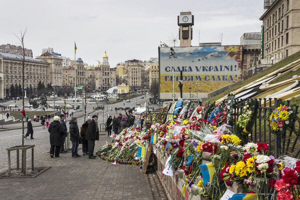
[[[241,109],[254,99],[235,99],[234,103],[234,130]],[[283,134],[276,135],[271,131],[269,124],[269,114],[280,105],[281,99],[259,98],[258,115],[254,123],[254,127],[250,133],[250,140],[254,142],[265,142],[269,144],[269,151],[278,157],[286,154],[292,157],[300,157],[300,118],[297,116],[298,105],[291,105],[295,111],[295,118],[291,121],[292,126]],[[253,103],[252,103],[253,104]],[[289,100],[286,101],[289,106]],[[253,107],[253,106],[252,106]]]

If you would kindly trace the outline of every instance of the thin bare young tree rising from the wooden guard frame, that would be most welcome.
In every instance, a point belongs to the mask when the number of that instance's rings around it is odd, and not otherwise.
[[[18,52],[21,56],[21,59],[22,59],[22,110],[23,110],[23,115],[25,113],[25,110],[24,110],[24,80],[25,80],[25,75],[24,75],[24,69],[25,67],[27,67],[28,64],[25,64],[25,47],[24,47],[24,36],[27,32],[27,28],[25,27],[25,30],[22,32],[20,30],[20,37],[18,37],[16,34],[14,34],[18,40],[20,41],[19,43],[19,49],[18,49]],[[28,79],[28,78],[27,78]],[[24,119],[24,117],[23,117]],[[24,146],[24,120],[22,120],[22,146]],[[24,151],[22,150],[22,168],[21,168],[21,171],[23,171],[23,160],[24,160]]]

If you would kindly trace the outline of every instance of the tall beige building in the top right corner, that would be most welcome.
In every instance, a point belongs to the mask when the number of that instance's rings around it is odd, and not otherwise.
[[[262,20],[262,57],[282,59],[300,50],[300,1],[274,0]]]

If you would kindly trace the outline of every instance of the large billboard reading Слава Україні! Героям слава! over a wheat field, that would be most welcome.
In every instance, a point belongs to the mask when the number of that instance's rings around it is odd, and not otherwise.
[[[159,98],[180,97],[180,70],[182,95],[185,99],[205,98],[207,94],[241,80],[242,46],[158,47]],[[175,66],[175,67],[174,67]],[[173,78],[174,77],[174,78]]]

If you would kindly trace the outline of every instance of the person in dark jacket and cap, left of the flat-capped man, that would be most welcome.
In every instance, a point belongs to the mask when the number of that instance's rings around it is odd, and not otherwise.
[[[79,128],[78,128],[78,124],[77,124],[77,117],[72,116],[71,120],[69,122],[70,127],[69,127],[69,131],[70,131],[70,140],[72,141],[72,157],[80,157],[81,155],[78,154],[78,146],[79,146],[79,140],[80,135],[79,135]]]

